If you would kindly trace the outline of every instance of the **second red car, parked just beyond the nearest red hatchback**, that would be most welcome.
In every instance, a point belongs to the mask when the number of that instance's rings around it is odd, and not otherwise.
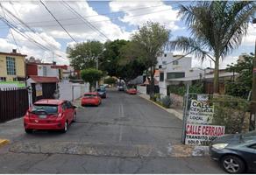
[[[102,103],[102,98],[97,92],[85,93],[81,100],[81,106],[95,105],[99,106]]]

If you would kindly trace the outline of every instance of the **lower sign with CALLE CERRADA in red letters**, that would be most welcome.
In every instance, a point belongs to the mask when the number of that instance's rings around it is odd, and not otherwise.
[[[209,144],[216,137],[224,136],[224,130],[224,126],[187,123],[185,144]]]

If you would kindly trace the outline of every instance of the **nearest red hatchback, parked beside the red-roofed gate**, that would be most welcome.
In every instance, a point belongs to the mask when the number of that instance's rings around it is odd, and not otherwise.
[[[75,122],[76,107],[63,100],[42,99],[35,102],[24,116],[26,133],[32,130],[61,130],[67,132],[68,125]]]

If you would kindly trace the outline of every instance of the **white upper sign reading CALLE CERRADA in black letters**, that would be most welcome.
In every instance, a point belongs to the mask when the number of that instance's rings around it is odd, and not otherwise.
[[[207,102],[199,102],[191,100],[191,105],[188,115],[188,123],[210,124],[214,115],[214,107]]]

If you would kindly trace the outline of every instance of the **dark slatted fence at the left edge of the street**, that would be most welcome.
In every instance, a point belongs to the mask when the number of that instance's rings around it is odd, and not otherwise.
[[[24,116],[28,107],[27,88],[0,89],[0,123]]]

